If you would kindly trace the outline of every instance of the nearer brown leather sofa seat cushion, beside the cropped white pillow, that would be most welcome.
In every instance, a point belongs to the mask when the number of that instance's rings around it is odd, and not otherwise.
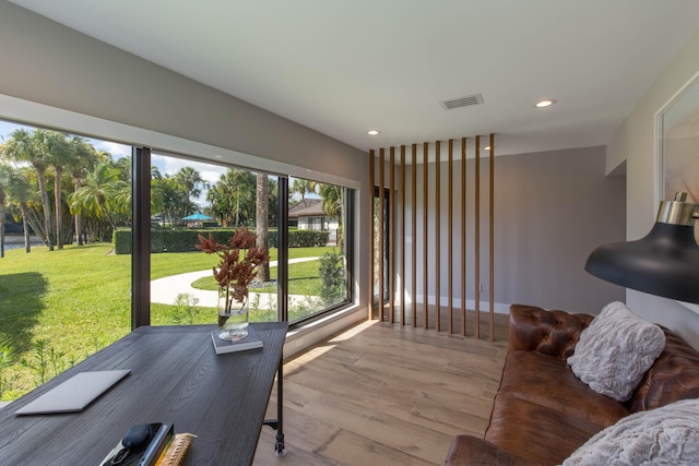
[[[485,440],[531,463],[556,465],[603,428],[526,399],[499,394]]]

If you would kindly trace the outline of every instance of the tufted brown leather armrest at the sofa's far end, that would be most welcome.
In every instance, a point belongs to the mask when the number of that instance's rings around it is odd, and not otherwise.
[[[509,349],[568,359],[593,316],[547,311],[535,306],[510,306]]]

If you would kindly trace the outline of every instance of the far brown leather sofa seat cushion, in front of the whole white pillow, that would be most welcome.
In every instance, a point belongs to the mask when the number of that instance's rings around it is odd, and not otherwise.
[[[626,406],[580,382],[565,360],[509,351],[499,393],[528,399],[566,416],[607,427],[629,414]]]

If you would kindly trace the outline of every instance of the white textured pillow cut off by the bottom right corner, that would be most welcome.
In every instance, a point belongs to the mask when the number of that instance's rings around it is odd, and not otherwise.
[[[619,419],[576,450],[562,466],[699,464],[699,399]]]

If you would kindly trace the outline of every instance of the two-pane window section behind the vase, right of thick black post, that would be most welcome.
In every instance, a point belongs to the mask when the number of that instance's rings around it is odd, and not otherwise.
[[[345,188],[292,178],[283,199],[280,180],[287,180],[277,176],[157,153],[152,165],[153,324],[213,322],[218,285],[212,272],[218,258],[193,248],[200,235],[216,232],[225,240],[239,228],[253,232],[258,246],[264,241],[270,254],[250,286],[252,322],[295,324],[350,301]],[[280,210],[287,211],[285,226]],[[282,232],[287,249],[280,253]],[[286,279],[280,279],[281,267]]]

